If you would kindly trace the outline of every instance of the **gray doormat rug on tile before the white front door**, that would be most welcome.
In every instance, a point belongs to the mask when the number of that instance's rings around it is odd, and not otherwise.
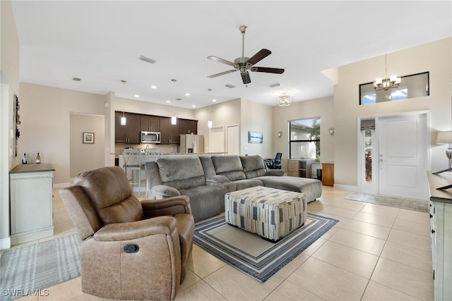
[[[372,204],[379,204],[389,207],[397,207],[401,209],[408,209],[414,211],[428,212],[429,206],[427,200],[422,199],[407,199],[403,197],[386,197],[384,195],[368,195],[367,193],[355,192],[345,199],[352,201],[367,202]]]

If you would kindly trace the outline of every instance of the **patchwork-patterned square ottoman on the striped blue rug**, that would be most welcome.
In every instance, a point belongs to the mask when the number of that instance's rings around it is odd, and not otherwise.
[[[228,192],[225,219],[232,226],[277,241],[306,222],[306,195],[263,186]]]

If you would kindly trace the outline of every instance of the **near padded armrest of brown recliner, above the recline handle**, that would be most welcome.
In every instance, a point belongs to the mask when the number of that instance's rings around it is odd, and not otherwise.
[[[130,223],[109,223],[94,233],[97,241],[121,241],[144,238],[155,234],[171,235],[176,228],[176,219],[172,216],[159,216]]]

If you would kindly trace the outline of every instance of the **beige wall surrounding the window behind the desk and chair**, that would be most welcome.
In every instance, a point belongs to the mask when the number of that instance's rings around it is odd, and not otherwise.
[[[289,158],[289,121],[304,118],[321,118],[320,125],[320,150],[321,162],[332,162],[335,159],[334,140],[335,135],[328,133],[328,128],[334,128],[333,97],[313,99],[306,102],[295,102],[291,106],[273,107],[273,153],[283,153],[283,169],[287,170],[287,159]],[[278,137],[278,132],[283,132]]]

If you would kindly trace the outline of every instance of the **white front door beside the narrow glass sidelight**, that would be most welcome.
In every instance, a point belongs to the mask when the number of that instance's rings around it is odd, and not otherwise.
[[[427,199],[427,116],[379,118],[379,193]]]

